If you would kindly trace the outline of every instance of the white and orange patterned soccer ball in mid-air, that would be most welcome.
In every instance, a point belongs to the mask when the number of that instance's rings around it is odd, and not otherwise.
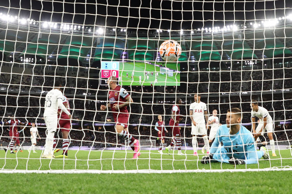
[[[159,47],[159,53],[164,61],[177,61],[181,46],[175,40],[165,40]]]

